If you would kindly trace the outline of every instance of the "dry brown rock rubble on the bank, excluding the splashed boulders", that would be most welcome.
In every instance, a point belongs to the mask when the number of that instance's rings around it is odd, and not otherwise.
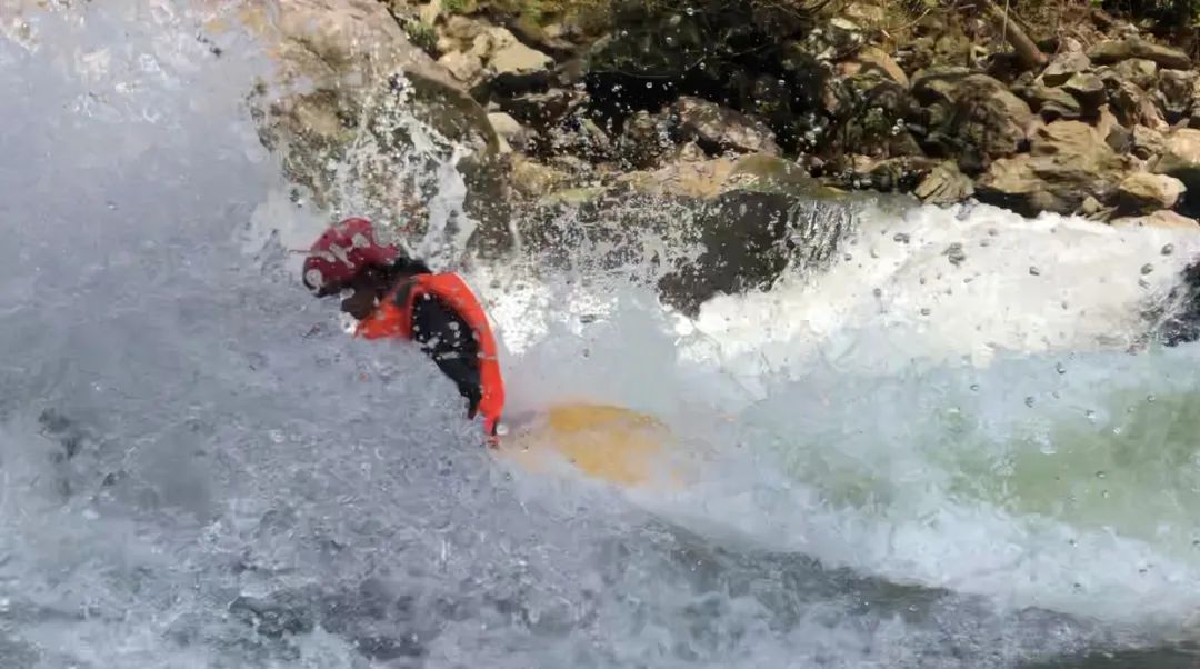
[[[1187,53],[1070,4],[1069,30],[1014,50],[1003,32],[1031,34],[1016,14],[937,5],[389,10],[488,110],[520,197],[614,185],[712,196],[731,178],[782,177],[1194,225],[1183,216],[1200,211],[1200,98]]]

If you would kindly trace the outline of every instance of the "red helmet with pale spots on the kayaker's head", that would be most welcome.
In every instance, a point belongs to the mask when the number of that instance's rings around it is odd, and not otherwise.
[[[385,267],[400,257],[394,245],[376,241],[374,227],[366,219],[346,219],[331,226],[308,250],[304,262],[304,285],[318,295],[336,293],[366,267]]]

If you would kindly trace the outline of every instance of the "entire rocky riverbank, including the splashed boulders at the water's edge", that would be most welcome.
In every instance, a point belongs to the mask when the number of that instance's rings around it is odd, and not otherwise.
[[[665,265],[684,310],[827,261],[852,191],[1196,226],[1188,50],[1090,2],[1022,23],[1040,5],[806,1],[281,0],[240,19],[281,64],[260,137],[323,207],[419,232],[454,209],[428,175],[464,150],[478,227],[450,234],[554,262],[589,229],[596,263]],[[647,227],[678,244],[630,251]],[[689,245],[707,251],[672,255]]]

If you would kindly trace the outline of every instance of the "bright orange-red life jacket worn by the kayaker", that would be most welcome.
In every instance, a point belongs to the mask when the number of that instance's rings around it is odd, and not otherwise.
[[[504,411],[504,380],[496,339],[487,323],[487,315],[475,294],[457,274],[418,274],[400,281],[380,301],[371,316],[359,323],[355,335],[365,339],[400,338],[413,339],[413,305],[424,294],[440,299],[449,305],[475,333],[479,344],[479,413],[484,416],[484,429],[488,436]],[[403,307],[397,306],[402,304]]]

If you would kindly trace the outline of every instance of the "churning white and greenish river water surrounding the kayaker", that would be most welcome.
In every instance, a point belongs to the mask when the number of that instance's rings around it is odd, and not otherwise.
[[[1196,235],[868,205],[828,270],[696,318],[619,273],[473,269],[514,406],[619,402],[696,454],[685,490],[612,490],[496,461],[419,353],[301,289],[281,250],[328,214],[258,144],[253,44],[217,58],[167,2],[0,29],[0,665],[1165,667],[1200,640],[1200,352],[1139,317]]]

